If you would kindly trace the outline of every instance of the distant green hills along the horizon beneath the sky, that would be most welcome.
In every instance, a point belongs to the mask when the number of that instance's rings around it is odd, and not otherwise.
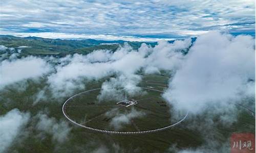
[[[191,38],[192,42],[196,38]],[[175,40],[169,41],[173,43]],[[124,41],[124,40],[94,40],[94,39],[82,39],[82,40],[66,40],[66,39],[49,39],[40,37],[15,37],[11,35],[0,35],[0,45],[6,47],[12,47],[10,52],[19,52],[20,56],[66,56],[68,54],[83,54],[87,55],[93,50],[97,49],[109,49],[115,50],[122,46],[124,43],[128,43],[134,49],[138,49],[142,43],[146,43],[151,46],[155,46],[157,42],[139,42],[139,41]],[[20,47],[22,46],[22,47]],[[18,48],[19,47],[19,48]],[[1,51],[1,50],[0,50]],[[182,50],[184,54],[188,50]]]

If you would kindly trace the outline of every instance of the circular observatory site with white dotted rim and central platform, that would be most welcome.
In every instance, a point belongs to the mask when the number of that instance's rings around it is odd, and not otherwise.
[[[107,134],[146,134],[170,129],[181,123],[173,119],[170,106],[161,96],[163,91],[141,87],[136,93],[101,88],[71,96],[62,106],[64,116],[85,129]]]

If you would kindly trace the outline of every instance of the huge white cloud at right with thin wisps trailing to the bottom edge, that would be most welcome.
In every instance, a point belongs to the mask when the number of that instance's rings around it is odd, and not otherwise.
[[[244,109],[255,105],[255,40],[210,32],[189,49],[163,97],[174,106],[172,118],[188,111],[185,127],[203,139],[200,146],[173,152],[227,152],[231,129]],[[209,132],[210,131],[210,132]],[[178,144],[177,144],[178,145]]]

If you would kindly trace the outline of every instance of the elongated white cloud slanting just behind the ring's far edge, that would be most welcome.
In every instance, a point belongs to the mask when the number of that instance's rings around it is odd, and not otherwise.
[[[129,79],[143,64],[138,52],[129,50],[131,46],[125,44],[114,53],[95,50],[87,56],[68,56],[61,59],[68,64],[57,66],[56,73],[48,77],[48,83],[58,95],[66,95],[74,89],[84,89],[83,80],[99,80],[111,74],[123,74]],[[136,62],[131,62],[132,60]]]

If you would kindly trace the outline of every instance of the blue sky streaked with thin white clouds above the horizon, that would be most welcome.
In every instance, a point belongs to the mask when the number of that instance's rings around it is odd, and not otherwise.
[[[0,34],[142,41],[208,31],[255,36],[254,6],[252,0],[2,0]]]

